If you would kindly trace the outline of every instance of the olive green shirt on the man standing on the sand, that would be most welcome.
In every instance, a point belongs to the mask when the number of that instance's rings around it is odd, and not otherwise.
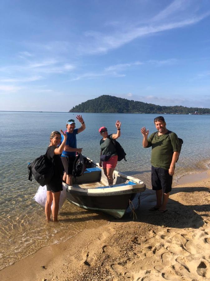
[[[170,168],[174,151],[179,151],[179,140],[174,132],[167,131],[158,136],[152,133],[148,138],[147,147],[152,147],[151,164],[154,167],[161,167],[166,170]]]

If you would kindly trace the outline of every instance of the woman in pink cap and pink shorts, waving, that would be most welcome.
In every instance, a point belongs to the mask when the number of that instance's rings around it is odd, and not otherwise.
[[[108,135],[107,128],[104,126],[98,130],[103,137],[100,141],[101,153],[99,166],[102,167],[103,163],[103,171],[107,177],[109,185],[113,184],[113,172],[117,165],[117,152],[112,140],[116,140],[120,137],[121,122],[117,120],[115,126],[117,128],[116,134]]]

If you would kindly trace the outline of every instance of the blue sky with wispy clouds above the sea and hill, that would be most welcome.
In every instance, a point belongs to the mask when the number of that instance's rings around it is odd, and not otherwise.
[[[2,0],[0,110],[103,94],[210,108],[209,0]]]

